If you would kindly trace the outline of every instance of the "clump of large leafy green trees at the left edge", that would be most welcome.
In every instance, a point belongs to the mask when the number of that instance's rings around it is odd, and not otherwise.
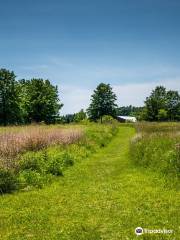
[[[16,81],[14,72],[0,69],[0,124],[54,123],[61,107],[49,80]]]

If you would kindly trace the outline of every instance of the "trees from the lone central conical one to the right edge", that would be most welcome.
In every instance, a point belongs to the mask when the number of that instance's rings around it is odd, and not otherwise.
[[[157,86],[144,102],[143,107],[116,105],[116,95],[109,84],[99,84],[92,95],[88,108],[90,119],[102,119],[103,115],[117,117],[119,115],[135,116],[145,121],[180,121],[180,95],[178,91],[166,90]]]

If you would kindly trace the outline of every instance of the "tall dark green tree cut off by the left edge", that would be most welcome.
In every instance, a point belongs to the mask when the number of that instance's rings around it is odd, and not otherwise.
[[[14,72],[0,69],[0,124],[18,124],[22,120],[19,85]]]

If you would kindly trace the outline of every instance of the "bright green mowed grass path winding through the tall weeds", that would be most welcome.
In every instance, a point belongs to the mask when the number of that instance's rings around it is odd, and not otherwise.
[[[133,135],[133,128],[120,127],[107,147],[52,185],[0,197],[0,239],[180,239],[180,194],[131,164]],[[175,234],[137,237],[137,226]]]

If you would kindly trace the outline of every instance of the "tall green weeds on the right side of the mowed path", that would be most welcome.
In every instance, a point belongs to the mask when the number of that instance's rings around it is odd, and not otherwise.
[[[180,179],[180,123],[137,123],[131,159],[177,185]]]

